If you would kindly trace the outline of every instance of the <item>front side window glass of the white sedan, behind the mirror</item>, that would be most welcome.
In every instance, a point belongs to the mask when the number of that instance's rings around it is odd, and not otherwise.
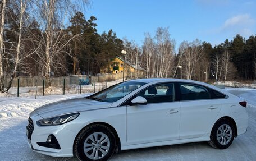
[[[136,96],[144,97],[147,99],[147,103],[173,102],[175,99],[174,85],[162,84],[150,86]]]

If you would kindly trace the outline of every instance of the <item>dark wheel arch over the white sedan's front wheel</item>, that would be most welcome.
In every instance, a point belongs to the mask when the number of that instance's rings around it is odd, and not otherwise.
[[[106,126],[108,127],[112,132],[113,134],[115,135],[115,140],[116,140],[116,145],[115,145],[115,153],[119,153],[119,151],[121,151],[121,144],[120,144],[120,138],[118,137],[118,134],[117,134],[117,131],[116,129],[109,125],[108,123],[106,122],[93,122],[93,123],[90,123],[89,125],[86,125],[84,128],[82,128],[76,135],[75,137],[75,140],[73,142],[73,153],[74,153],[74,146],[75,146],[75,141],[76,141],[76,138],[77,136],[79,136],[80,132],[83,131],[86,127],[89,127],[89,126],[92,126],[92,125],[103,125],[103,126]],[[74,155],[74,154],[73,154]],[[74,155],[75,156],[75,155]]]

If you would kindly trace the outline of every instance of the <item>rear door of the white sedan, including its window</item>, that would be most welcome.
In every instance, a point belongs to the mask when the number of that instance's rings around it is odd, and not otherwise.
[[[180,139],[200,137],[210,128],[221,109],[218,99],[211,99],[210,91],[200,85],[179,83]]]

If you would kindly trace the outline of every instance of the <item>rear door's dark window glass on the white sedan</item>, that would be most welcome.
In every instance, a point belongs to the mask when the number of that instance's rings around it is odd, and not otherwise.
[[[200,85],[180,84],[181,100],[210,99],[209,91]]]

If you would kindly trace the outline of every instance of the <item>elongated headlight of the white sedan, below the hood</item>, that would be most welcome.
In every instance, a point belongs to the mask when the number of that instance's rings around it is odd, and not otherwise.
[[[70,122],[76,119],[79,116],[79,112],[70,113],[70,114],[63,114],[61,116],[51,117],[51,118],[44,118],[36,121],[38,126],[53,126],[53,125],[61,125],[63,123]]]

